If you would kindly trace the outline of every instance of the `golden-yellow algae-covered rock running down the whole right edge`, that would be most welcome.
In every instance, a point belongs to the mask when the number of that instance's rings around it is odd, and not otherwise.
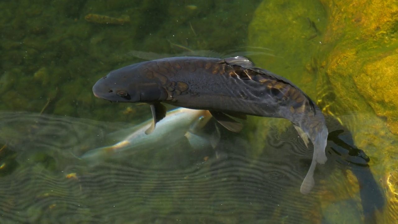
[[[330,110],[337,114],[356,114],[343,122],[353,132],[357,146],[371,157],[371,171],[381,181],[396,170],[398,157],[394,100],[398,94],[398,4],[365,0],[322,3],[329,24],[322,39],[324,45],[315,57],[322,61],[319,75],[326,77],[335,96],[328,104],[335,104]],[[387,204],[377,221],[396,223],[395,193],[384,181],[380,183]]]

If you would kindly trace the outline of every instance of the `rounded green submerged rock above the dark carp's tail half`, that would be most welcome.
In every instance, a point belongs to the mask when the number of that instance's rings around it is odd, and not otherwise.
[[[258,67],[288,77],[312,96],[314,73],[307,71],[306,64],[320,45],[325,25],[326,12],[318,0],[263,1],[249,26],[248,46],[270,49],[275,57],[251,58]]]

